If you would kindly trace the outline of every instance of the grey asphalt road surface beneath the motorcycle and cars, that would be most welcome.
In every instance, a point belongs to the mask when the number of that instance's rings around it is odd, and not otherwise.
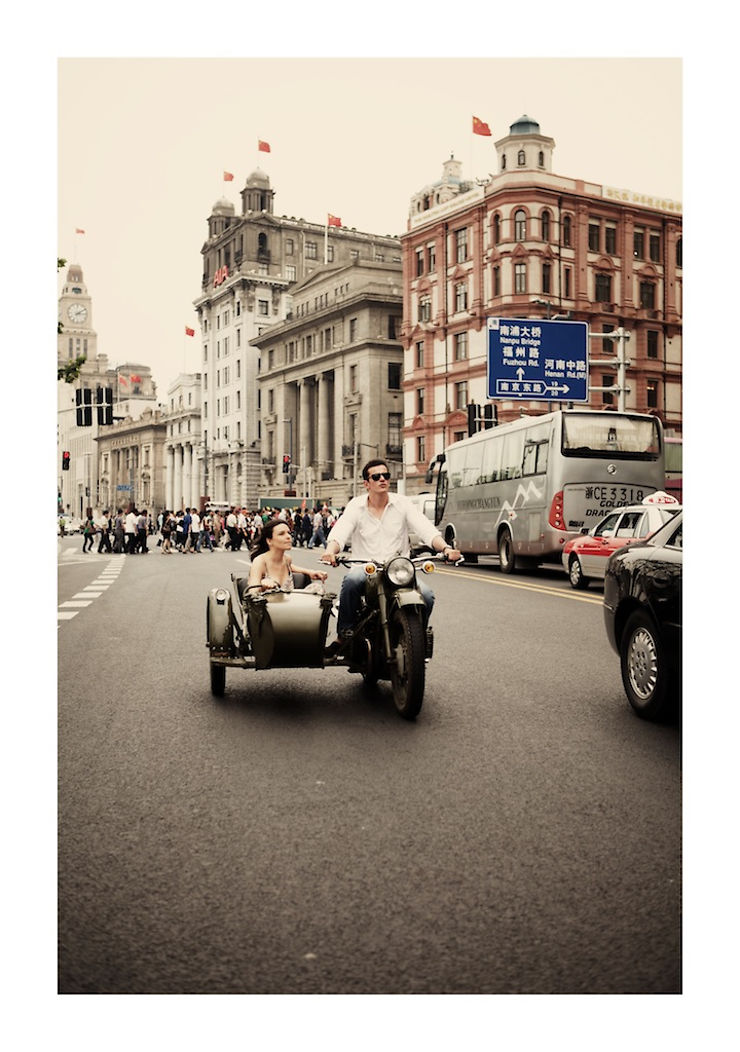
[[[679,730],[632,713],[599,587],[438,573],[408,723],[338,668],[212,697],[245,553],[61,548],[60,992],[680,991]]]

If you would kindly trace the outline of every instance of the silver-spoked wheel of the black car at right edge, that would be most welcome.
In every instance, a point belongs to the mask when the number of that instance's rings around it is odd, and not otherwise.
[[[663,720],[675,705],[674,672],[648,613],[636,610],[620,645],[622,683],[633,709],[644,720]]]

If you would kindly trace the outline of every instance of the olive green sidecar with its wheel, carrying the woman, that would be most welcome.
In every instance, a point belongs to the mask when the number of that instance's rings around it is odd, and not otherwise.
[[[323,668],[326,632],[336,600],[294,574],[294,589],[260,591],[232,573],[231,588],[212,588],[206,603],[211,690],[218,697],[232,668]],[[333,661],[332,664],[337,664]]]

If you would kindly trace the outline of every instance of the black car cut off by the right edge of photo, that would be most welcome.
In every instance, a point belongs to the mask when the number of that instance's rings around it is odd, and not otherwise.
[[[682,511],[645,544],[615,551],[606,565],[606,634],[620,656],[629,704],[645,720],[678,710],[682,569]]]

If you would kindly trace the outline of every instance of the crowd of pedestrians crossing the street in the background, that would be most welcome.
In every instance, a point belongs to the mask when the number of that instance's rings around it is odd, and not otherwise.
[[[272,520],[287,524],[294,547],[325,548],[336,517],[326,505],[313,509],[262,508],[259,511],[237,505],[223,513],[208,508],[202,513],[198,508],[164,509],[156,520],[146,508],[126,511],[118,508],[115,514],[106,508],[97,517],[88,508],[82,527],[82,551],[93,551],[96,541],[101,554],[148,554],[159,549],[163,555],[197,555],[206,550],[212,553],[239,551],[242,546],[248,550]]]

